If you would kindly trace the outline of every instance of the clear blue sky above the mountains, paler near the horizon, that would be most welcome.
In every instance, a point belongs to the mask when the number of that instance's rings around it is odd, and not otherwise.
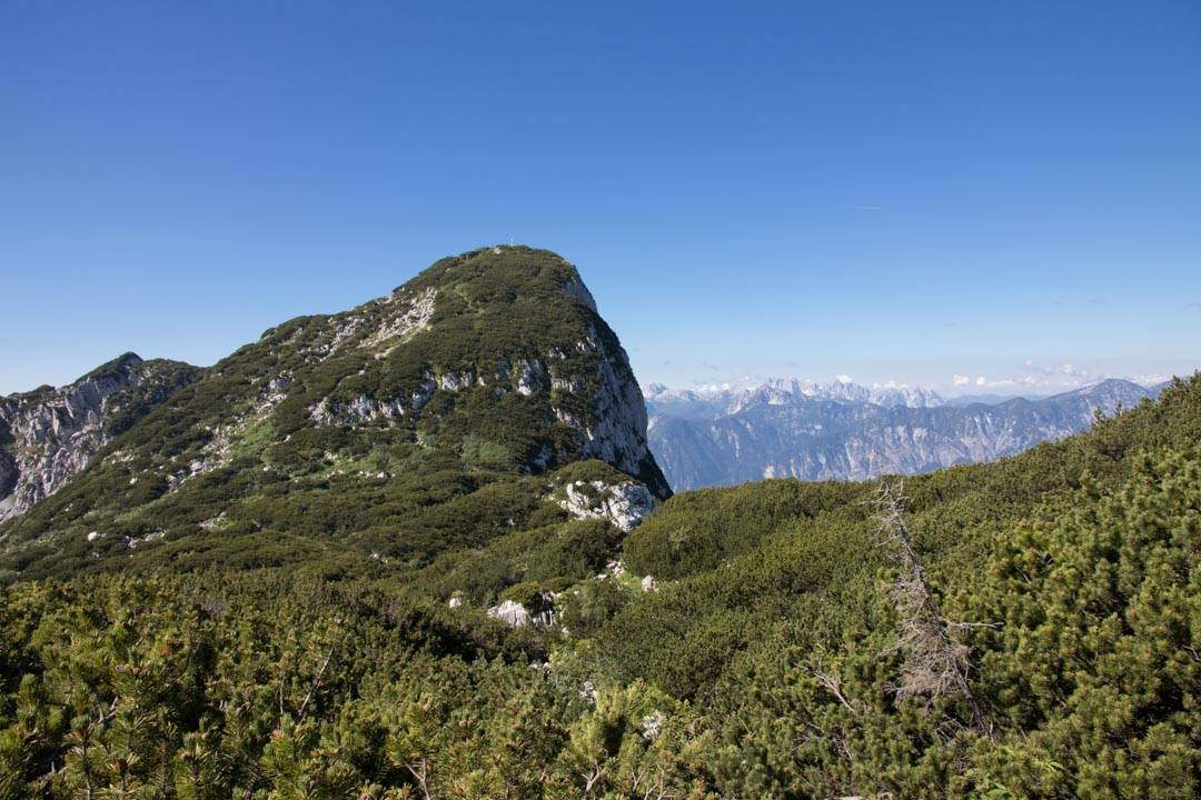
[[[1201,4],[0,7],[0,392],[510,240],[643,381],[1191,372]]]

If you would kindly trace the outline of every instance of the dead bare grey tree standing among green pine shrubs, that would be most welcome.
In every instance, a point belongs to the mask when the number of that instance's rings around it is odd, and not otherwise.
[[[897,640],[890,651],[904,655],[900,680],[892,686],[896,702],[925,697],[930,706],[943,697],[962,697],[972,709],[972,727],[991,736],[992,724],[968,682],[972,649],[956,636],[967,626],[943,615],[906,524],[904,504],[904,482],[882,480],[876,519],[897,567],[890,591],[898,616]]]

